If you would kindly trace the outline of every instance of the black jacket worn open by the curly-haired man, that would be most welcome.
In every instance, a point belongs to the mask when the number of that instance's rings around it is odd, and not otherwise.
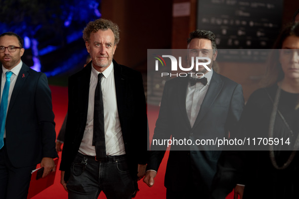
[[[147,115],[142,76],[139,72],[118,65],[113,60],[116,101],[125,153],[132,177],[137,177],[138,164],[146,164]],[[89,63],[69,78],[68,117],[60,170],[69,178],[87,121],[89,85],[92,64]]]

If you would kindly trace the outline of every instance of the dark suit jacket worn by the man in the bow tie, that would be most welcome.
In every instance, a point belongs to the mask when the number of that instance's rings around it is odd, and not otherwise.
[[[205,139],[228,138],[234,133],[240,118],[244,100],[241,85],[213,71],[210,85],[202,102],[193,128],[186,112],[188,77],[178,77],[165,83],[159,117],[153,139]],[[194,142],[193,142],[194,143]],[[196,178],[198,188],[204,191],[211,185],[216,173],[221,151],[196,145],[172,145],[165,174],[165,187],[182,190],[190,180]],[[157,171],[165,153],[164,146],[151,145],[147,170]],[[175,151],[174,151],[175,150]]]

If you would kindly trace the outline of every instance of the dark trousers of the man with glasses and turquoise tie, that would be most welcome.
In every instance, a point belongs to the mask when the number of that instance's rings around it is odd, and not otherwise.
[[[27,198],[31,171],[36,165],[30,167],[14,167],[7,155],[6,142],[0,150],[0,198]]]

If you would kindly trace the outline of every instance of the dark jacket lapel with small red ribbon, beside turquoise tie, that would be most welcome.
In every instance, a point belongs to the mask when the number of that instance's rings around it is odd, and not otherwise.
[[[14,106],[14,103],[15,103],[15,101],[16,101],[16,98],[17,98],[17,96],[18,96],[20,90],[22,89],[25,80],[26,80],[26,79],[28,78],[28,76],[29,76],[28,70],[29,70],[29,67],[26,66],[26,65],[23,63],[22,68],[21,68],[21,70],[20,70],[20,72],[19,72],[19,75],[18,75],[18,77],[17,77],[15,87],[14,87],[13,92],[12,92],[12,96],[11,96],[11,100],[10,100],[10,103],[9,103],[9,107],[8,107],[7,114],[9,114],[10,110],[11,110],[12,107]]]

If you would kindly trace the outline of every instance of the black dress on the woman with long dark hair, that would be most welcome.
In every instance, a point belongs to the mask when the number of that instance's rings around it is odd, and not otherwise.
[[[239,123],[239,132],[244,133],[245,137],[269,137],[269,122],[277,88],[277,85],[261,88],[249,97]],[[295,108],[298,104],[298,95],[281,90],[278,110],[289,127],[277,114],[274,137],[283,138],[285,145],[287,145],[285,142],[287,138],[290,144],[293,144],[298,135],[299,111]],[[275,146],[274,154],[277,165],[282,166],[289,158],[291,151],[279,151],[279,145]],[[269,151],[244,151],[240,154],[242,154],[241,159],[244,163],[241,172],[243,173],[242,182],[245,183],[244,199],[299,198],[299,154],[294,156],[288,167],[280,170],[271,163]]]

